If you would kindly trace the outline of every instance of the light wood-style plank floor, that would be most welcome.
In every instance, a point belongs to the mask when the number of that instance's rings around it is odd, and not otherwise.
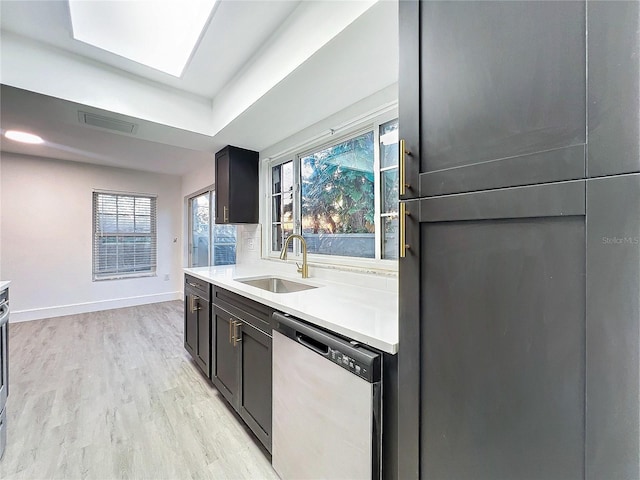
[[[183,348],[182,302],[10,325],[1,479],[277,479]]]

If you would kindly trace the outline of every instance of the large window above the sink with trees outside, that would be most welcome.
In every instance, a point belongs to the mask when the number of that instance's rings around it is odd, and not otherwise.
[[[397,119],[276,160],[270,185],[272,255],[299,233],[319,261],[398,258]]]

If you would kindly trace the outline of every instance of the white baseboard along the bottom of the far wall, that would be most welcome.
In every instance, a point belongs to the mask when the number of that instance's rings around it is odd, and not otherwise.
[[[182,300],[182,292],[155,293],[153,295],[139,295],[136,297],[98,300],[97,302],[33,308],[30,310],[12,310],[9,322],[28,322],[31,320],[41,320],[43,318],[62,317],[65,315],[75,315],[77,313],[99,312],[102,310],[112,310],[114,308],[135,307],[137,305],[168,302],[171,300]]]

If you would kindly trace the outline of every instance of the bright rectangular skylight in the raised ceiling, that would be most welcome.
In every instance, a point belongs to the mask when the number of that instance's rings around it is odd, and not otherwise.
[[[73,38],[179,77],[216,2],[69,0]]]

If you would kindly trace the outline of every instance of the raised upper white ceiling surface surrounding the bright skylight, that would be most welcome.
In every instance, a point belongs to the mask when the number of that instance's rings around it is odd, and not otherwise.
[[[211,22],[181,78],[74,40],[66,0],[2,0],[0,26],[6,32],[37,40],[185,92],[213,98],[299,3],[300,0],[218,2]],[[152,5],[152,2],[149,4]],[[117,26],[114,26],[114,31],[117,31]]]

